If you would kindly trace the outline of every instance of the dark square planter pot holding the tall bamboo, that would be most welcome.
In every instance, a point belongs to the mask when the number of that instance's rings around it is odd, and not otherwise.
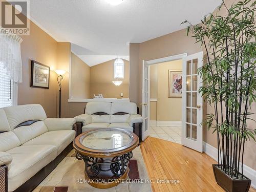
[[[212,165],[214,169],[215,180],[227,192],[247,192],[249,191],[251,180],[244,176],[243,180],[229,177],[219,168],[218,165]]]

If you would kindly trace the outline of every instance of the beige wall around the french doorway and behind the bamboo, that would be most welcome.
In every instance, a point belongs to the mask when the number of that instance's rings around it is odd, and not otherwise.
[[[225,1],[227,7],[233,3],[232,0]],[[220,12],[226,15],[226,10]],[[194,38],[187,37],[185,29],[170,33],[152,40],[142,42],[141,44],[130,44],[130,99],[139,105],[142,101],[142,60],[152,60],[181,53],[188,55],[204,51],[199,44],[195,44]],[[137,80],[132,80],[132,79]],[[139,83],[138,83],[139,82]],[[140,110],[141,111],[141,110]],[[211,106],[207,105],[207,113],[212,111]],[[251,111],[256,111],[256,106],[253,104]],[[252,119],[256,119],[253,115]],[[255,124],[255,123],[254,123]],[[254,127],[253,122],[248,122],[250,127]],[[254,129],[254,128],[253,128]],[[217,147],[216,134],[211,134],[212,130],[207,131],[204,128],[204,141],[210,145]],[[256,169],[255,156],[256,143],[251,139],[246,143],[244,163],[251,168]]]

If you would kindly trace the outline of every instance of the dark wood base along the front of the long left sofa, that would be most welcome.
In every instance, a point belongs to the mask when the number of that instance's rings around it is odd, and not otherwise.
[[[14,192],[30,192],[36,188],[42,182],[42,180],[44,180],[52,172],[60,161],[62,161],[69,154],[69,152],[73,149],[72,143],[73,142],[71,142],[52,162],[39,170],[39,172],[37,172],[24,184],[20,185],[16,190],[14,190]]]

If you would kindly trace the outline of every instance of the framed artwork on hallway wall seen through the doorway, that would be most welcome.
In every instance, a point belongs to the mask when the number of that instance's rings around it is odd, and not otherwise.
[[[182,71],[168,70],[168,98],[181,97]]]

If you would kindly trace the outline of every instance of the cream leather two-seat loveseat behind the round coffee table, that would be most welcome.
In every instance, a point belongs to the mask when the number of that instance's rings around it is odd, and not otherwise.
[[[74,117],[82,122],[82,132],[95,128],[121,128],[134,132],[143,119],[133,102],[88,102],[84,114]]]

